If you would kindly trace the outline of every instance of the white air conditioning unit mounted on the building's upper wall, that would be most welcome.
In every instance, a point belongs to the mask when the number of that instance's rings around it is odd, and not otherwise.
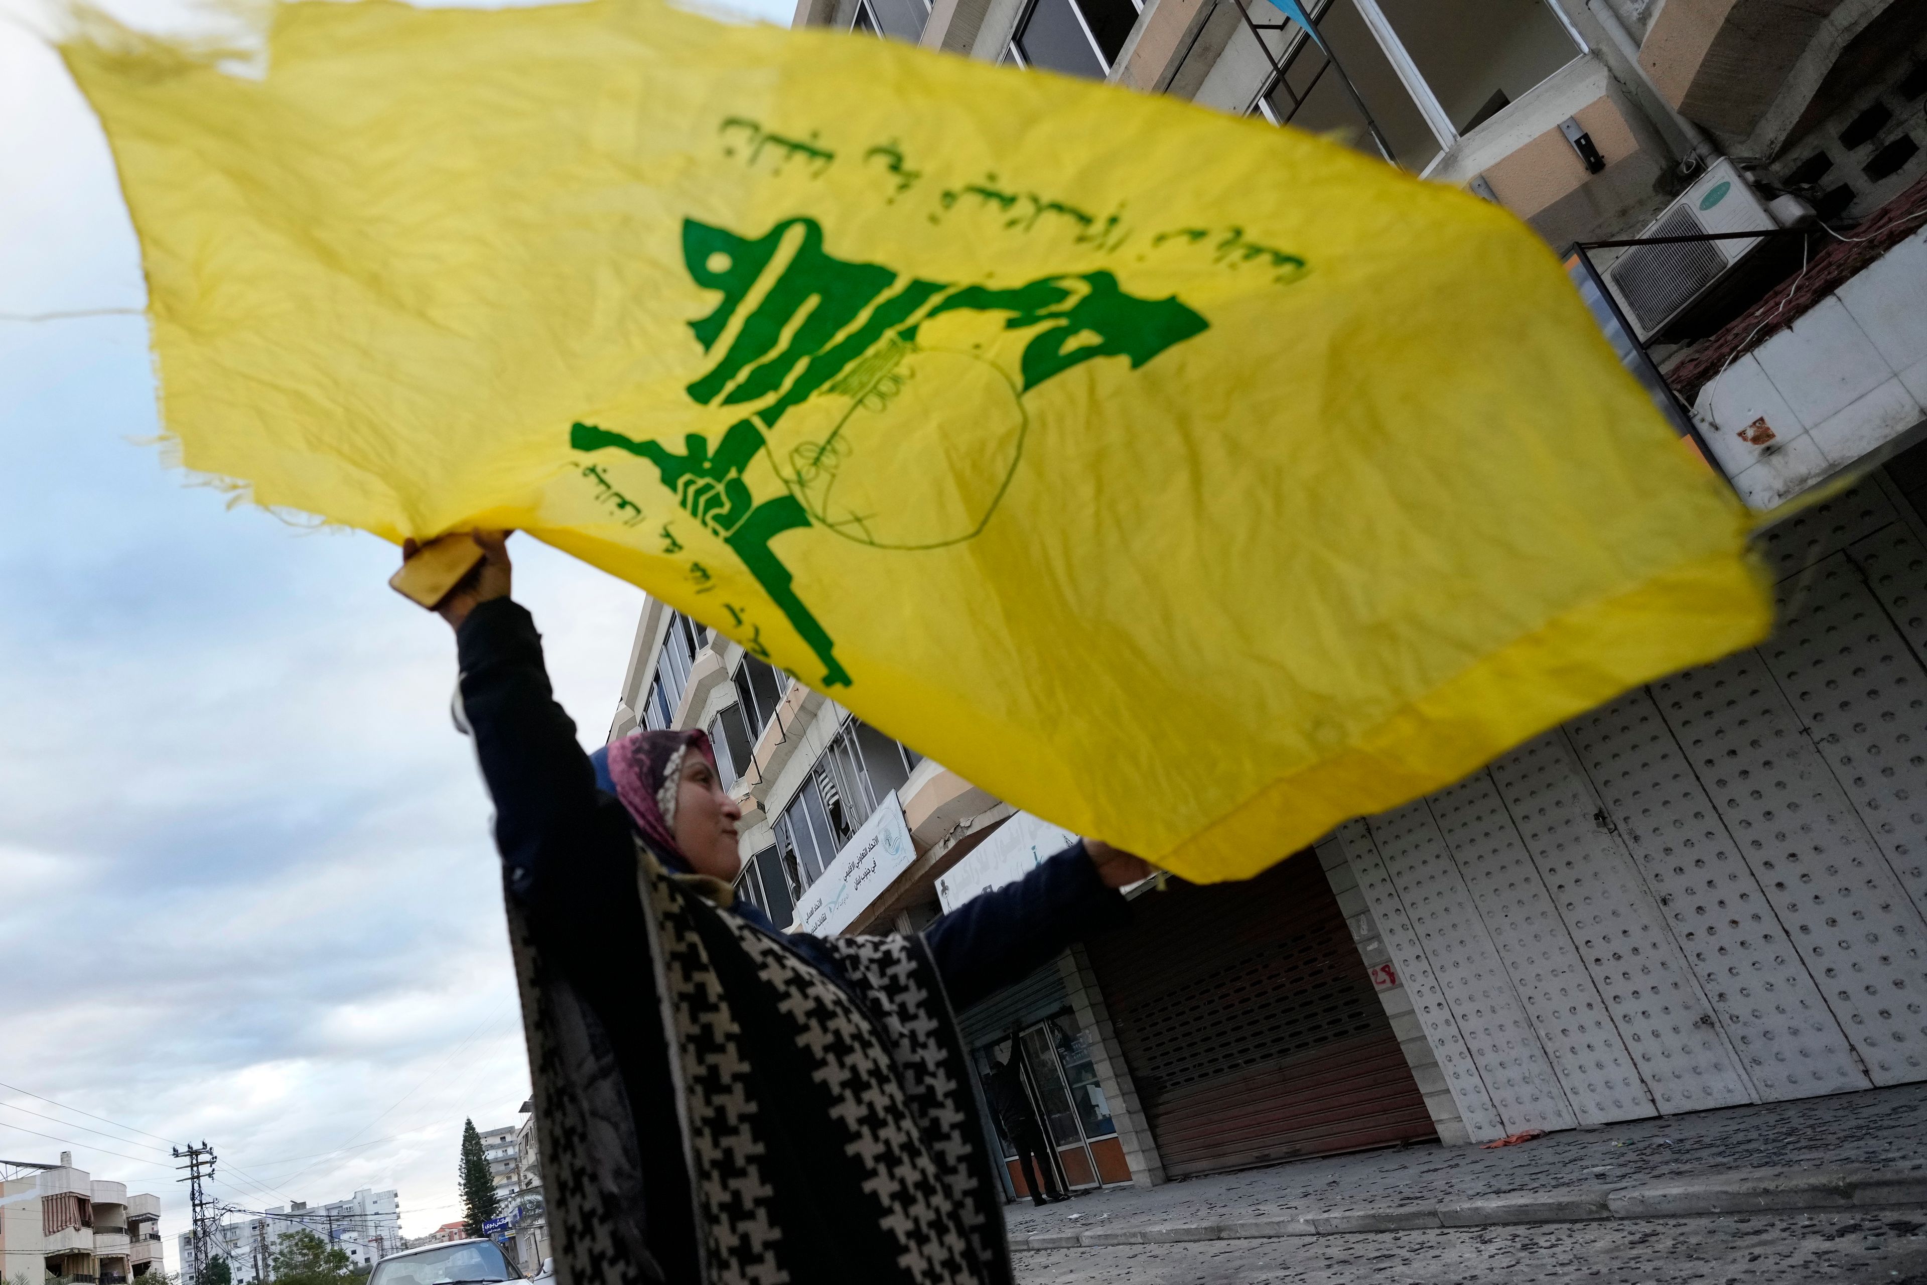
[[[1640,237],[1698,237],[1723,231],[1775,231],[1779,223],[1767,214],[1759,197],[1732,162],[1721,158],[1688,187],[1665,214],[1653,220]],[[1734,264],[1754,252],[1757,239],[1732,241],[1675,241],[1671,245],[1636,245],[1621,254],[1605,279],[1619,306],[1640,331],[1651,339],[1696,299],[1713,289]]]

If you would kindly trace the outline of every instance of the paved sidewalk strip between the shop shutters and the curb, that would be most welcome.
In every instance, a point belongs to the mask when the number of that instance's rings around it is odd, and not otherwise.
[[[1299,1160],[1150,1189],[1120,1187],[1044,1208],[1019,1200],[1004,1206],[1004,1214],[1012,1235],[1029,1235],[1359,1206],[1397,1208],[1455,1196],[1586,1183],[1619,1187],[1732,1169],[1798,1171],[1840,1166],[1927,1169],[1927,1085],[1571,1129],[1499,1150],[1434,1142]]]

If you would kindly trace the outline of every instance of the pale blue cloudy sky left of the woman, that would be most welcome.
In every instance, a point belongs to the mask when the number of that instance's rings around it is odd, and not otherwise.
[[[212,1142],[237,1208],[393,1187],[416,1235],[459,1216],[462,1117],[528,1094],[453,643],[389,545],[162,466],[141,316],[17,320],[145,302],[33,4],[0,0],[0,1158],[160,1194],[175,1268],[170,1141]],[[642,597],[516,545],[595,742]]]

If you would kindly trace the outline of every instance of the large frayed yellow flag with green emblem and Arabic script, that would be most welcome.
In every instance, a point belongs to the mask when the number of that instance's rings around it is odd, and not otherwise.
[[[1189,879],[1769,624],[1549,249],[1333,143],[657,0],[64,52],[189,468],[522,528]]]

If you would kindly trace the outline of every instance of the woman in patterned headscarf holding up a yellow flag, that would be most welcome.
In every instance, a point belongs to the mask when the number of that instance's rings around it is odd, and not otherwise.
[[[478,534],[436,611],[495,800],[561,1285],[1010,1281],[952,1006],[1116,923],[1148,867],[1087,842],[921,934],[779,932],[732,896],[742,813],[701,732],[582,753],[505,541]]]

